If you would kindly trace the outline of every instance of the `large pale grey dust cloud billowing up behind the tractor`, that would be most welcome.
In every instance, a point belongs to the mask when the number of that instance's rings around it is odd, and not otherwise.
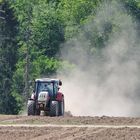
[[[105,47],[95,49],[90,40],[95,32],[105,34],[106,23],[114,31]],[[73,64],[59,74],[66,110],[76,116],[140,116],[140,46],[132,17],[122,4],[105,2],[82,30],[86,34],[62,48],[62,59]]]

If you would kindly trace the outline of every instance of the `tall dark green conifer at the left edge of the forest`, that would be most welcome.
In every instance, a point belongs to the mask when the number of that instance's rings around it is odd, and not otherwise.
[[[16,114],[19,108],[11,87],[17,61],[17,22],[7,1],[1,1],[0,11],[0,113]]]

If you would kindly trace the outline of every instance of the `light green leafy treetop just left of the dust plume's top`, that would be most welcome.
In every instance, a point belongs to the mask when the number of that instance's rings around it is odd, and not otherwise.
[[[77,36],[81,26],[90,15],[94,15],[101,0],[62,0],[59,3],[60,17],[65,26],[65,39]]]

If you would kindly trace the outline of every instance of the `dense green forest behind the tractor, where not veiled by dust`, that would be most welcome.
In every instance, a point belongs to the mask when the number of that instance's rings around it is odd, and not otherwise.
[[[0,113],[17,114],[29,94],[29,82],[55,75],[62,65],[60,49],[78,35],[87,40],[85,52],[94,55],[119,30],[114,17],[100,23],[96,12],[103,0],[0,0]],[[116,2],[108,0],[106,2]],[[140,2],[120,1],[135,22],[140,22]],[[119,13],[121,15],[122,13]],[[114,15],[113,15],[114,16]],[[94,27],[85,28],[94,22]]]

